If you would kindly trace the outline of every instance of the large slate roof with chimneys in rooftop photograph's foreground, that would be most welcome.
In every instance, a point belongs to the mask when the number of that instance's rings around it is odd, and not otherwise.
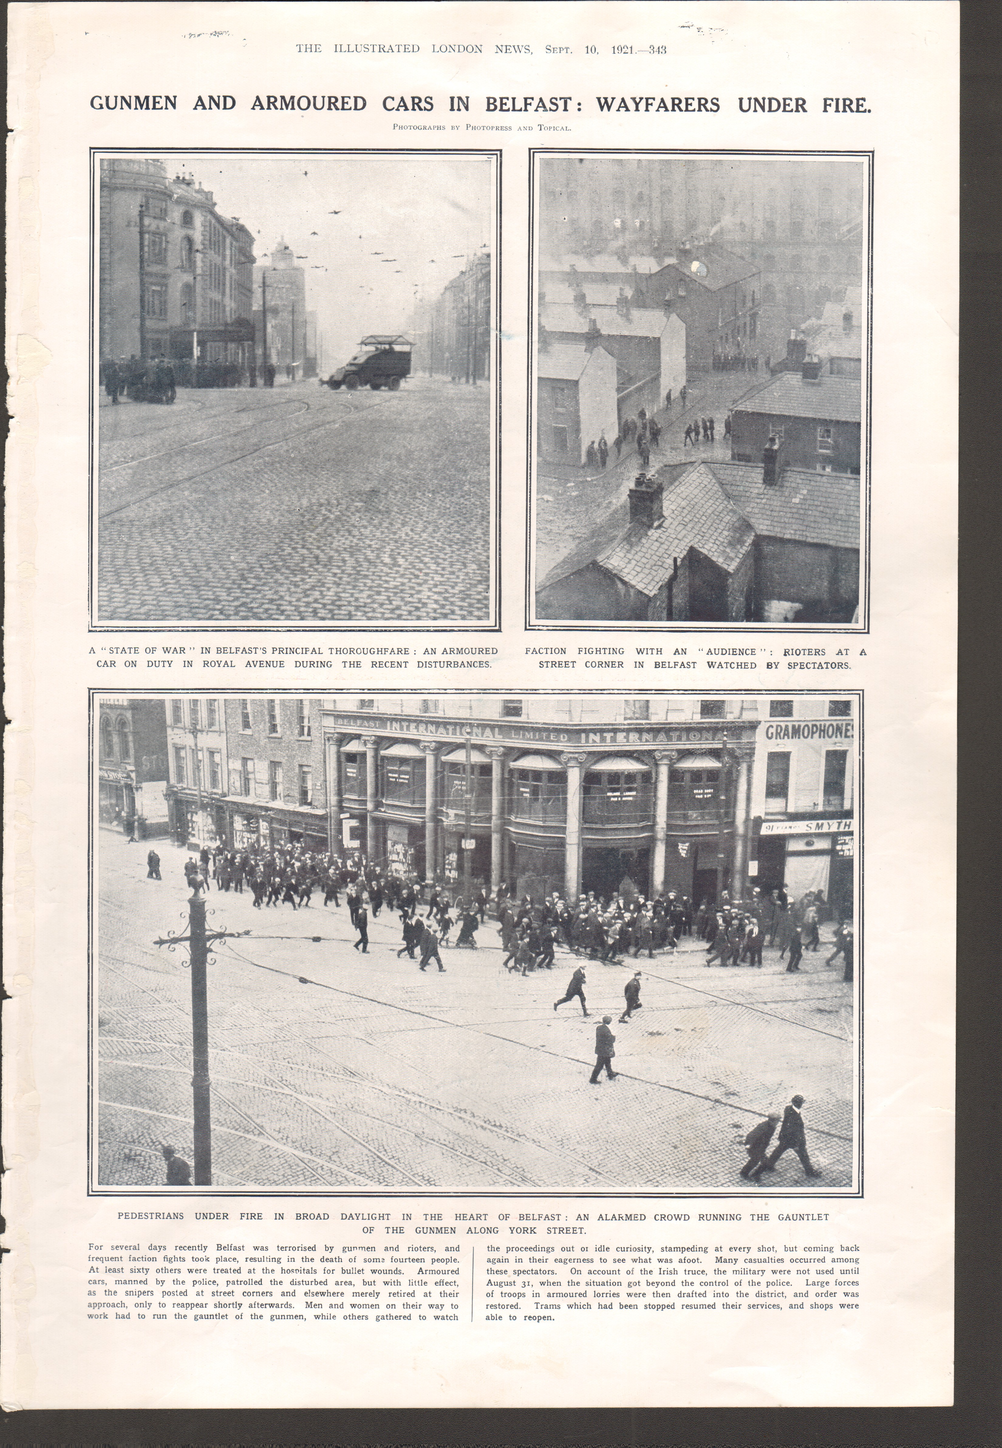
[[[650,598],[691,547],[733,573],[756,536],[860,546],[859,478],[786,468],[775,487],[766,487],[762,466],[738,462],[675,463],[656,476],[665,484],[662,523],[653,529],[630,523],[628,501],[617,504],[540,588],[598,563]]]

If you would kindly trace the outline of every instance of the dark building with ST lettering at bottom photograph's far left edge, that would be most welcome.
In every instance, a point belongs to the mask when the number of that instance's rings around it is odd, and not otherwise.
[[[106,698],[97,718],[98,820],[139,840],[167,834],[168,741],[158,699]]]

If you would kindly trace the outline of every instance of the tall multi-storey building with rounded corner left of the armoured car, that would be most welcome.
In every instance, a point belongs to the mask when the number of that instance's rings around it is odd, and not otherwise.
[[[101,358],[253,361],[253,236],[162,161],[100,164]]]

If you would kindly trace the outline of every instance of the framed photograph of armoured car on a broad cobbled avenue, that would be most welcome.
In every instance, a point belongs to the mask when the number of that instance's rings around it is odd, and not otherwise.
[[[91,626],[497,628],[498,153],[91,162]]]

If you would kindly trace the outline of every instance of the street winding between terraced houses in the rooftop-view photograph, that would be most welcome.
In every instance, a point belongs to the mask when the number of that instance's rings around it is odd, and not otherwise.
[[[730,462],[731,440],[724,436],[724,418],[734,401],[769,374],[699,372],[689,382],[685,407],[675,397],[670,410],[654,414],[660,427],[660,446],[650,455],[649,472],[665,463]],[[714,442],[686,446],[685,429],[701,417],[712,417]],[[540,459],[536,481],[536,581],[559,563],[573,544],[589,533],[605,513],[621,502],[641,471],[636,445],[623,449],[617,459],[610,442],[605,469],[571,468]]]

